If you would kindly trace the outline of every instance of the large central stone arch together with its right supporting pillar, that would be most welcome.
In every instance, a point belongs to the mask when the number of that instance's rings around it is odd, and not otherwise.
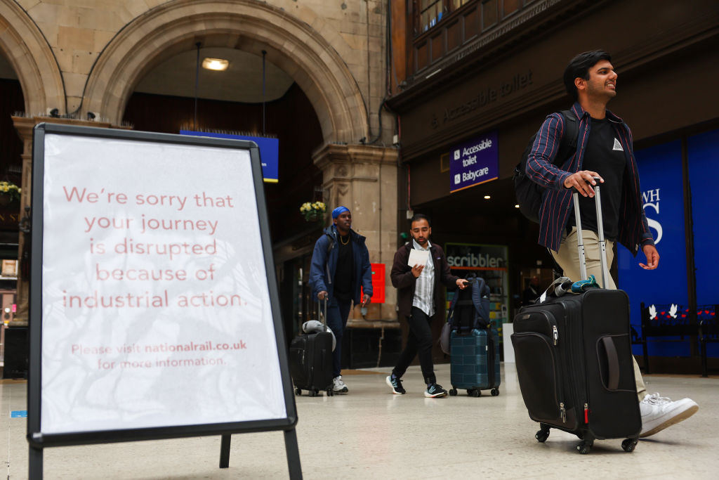
[[[353,52],[346,48],[341,55],[336,50],[334,45],[344,40],[321,19],[316,24],[321,32],[303,20],[256,0],[161,4],[127,24],[101,52],[88,76],[80,117],[93,112],[96,118],[120,124],[137,83],[168,58],[194,50],[197,42],[257,55],[265,50],[267,60],[296,81],[317,114],[324,145],[313,161],[323,171],[328,200],[352,205],[370,245],[370,261],[391,265],[398,153],[395,148],[358,145],[369,135],[362,93],[343,59]],[[336,170],[339,164],[346,168]],[[370,306],[370,316],[395,319],[394,300],[388,287],[385,304]],[[359,308],[354,316],[359,317]]]

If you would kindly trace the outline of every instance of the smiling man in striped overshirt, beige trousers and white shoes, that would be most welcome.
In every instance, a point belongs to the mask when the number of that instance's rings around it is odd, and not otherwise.
[[[549,248],[564,275],[574,280],[580,279],[580,258],[573,191],[580,193],[587,276],[602,279],[597,225],[603,225],[608,265],[613,260],[615,241],[635,256],[641,248],[646,257],[646,263],[639,263],[641,268],[654,270],[659,265],[659,253],[644,214],[631,130],[607,109],[617,94],[617,78],[611,57],[603,50],[574,57],[564,70],[564,86],[574,99],[572,114],[579,122],[577,150],[564,163],[554,165],[565,130],[564,116],[554,113],[544,120],[527,156],[527,176],[547,189],[539,210],[539,244]],[[595,177],[603,184],[602,222],[592,200]],[[616,288],[611,277],[603,287]],[[634,372],[641,437],[681,422],[699,409],[692,399],[672,402],[659,394],[647,394],[636,361]]]

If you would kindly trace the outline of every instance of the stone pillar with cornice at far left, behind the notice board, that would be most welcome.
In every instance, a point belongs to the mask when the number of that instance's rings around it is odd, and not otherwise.
[[[17,303],[17,312],[11,322],[11,326],[27,325],[28,309],[29,309],[29,278],[27,276],[27,268],[29,266],[29,242],[30,235],[29,219],[32,216],[30,210],[32,199],[32,129],[35,125],[45,123],[58,123],[65,125],[79,125],[83,127],[101,127],[113,128],[109,123],[88,122],[86,120],[54,118],[54,117],[12,117],[17,134],[22,140],[22,185],[20,186],[20,235],[18,241],[18,260],[19,266],[17,273],[17,295],[15,302]],[[120,127],[122,128],[122,127]],[[23,231],[25,230],[25,231]],[[26,250],[27,245],[27,252]],[[23,258],[25,257],[25,258]]]

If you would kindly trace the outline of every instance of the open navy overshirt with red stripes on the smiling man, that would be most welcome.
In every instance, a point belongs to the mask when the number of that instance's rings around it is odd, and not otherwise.
[[[552,164],[564,133],[564,117],[562,114],[554,113],[544,120],[527,157],[527,176],[547,189],[539,210],[539,245],[551,248],[555,252],[559,251],[562,232],[567,225],[569,214],[572,214],[574,209],[573,189],[565,189],[564,180],[572,173],[582,170],[582,160],[590,135],[590,114],[582,109],[579,102],[574,102],[572,112],[580,120],[577,152],[567,159],[561,168]],[[640,245],[654,245],[654,240],[641,201],[639,172],[634,158],[631,130],[612,112],[607,111],[607,118],[622,144],[627,160],[619,207],[617,240],[636,255]]]

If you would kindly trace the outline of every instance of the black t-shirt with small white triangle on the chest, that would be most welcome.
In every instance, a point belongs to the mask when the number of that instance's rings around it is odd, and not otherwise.
[[[622,182],[626,157],[619,137],[611,122],[604,118],[592,118],[589,140],[585,150],[582,170],[595,171],[604,178],[600,186],[604,236],[615,240],[619,233],[619,205],[622,199]],[[595,199],[580,195],[582,230],[597,232],[597,207]],[[569,216],[567,227],[574,227],[574,213]]]

